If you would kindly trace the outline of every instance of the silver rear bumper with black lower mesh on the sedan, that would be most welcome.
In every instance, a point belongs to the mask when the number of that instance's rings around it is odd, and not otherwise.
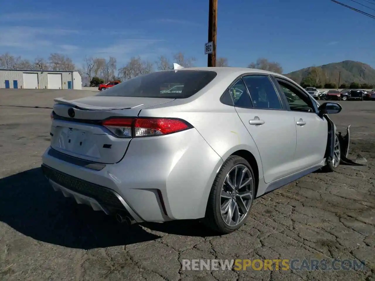
[[[53,153],[51,153],[53,152]],[[86,163],[43,154],[42,169],[55,190],[106,214],[126,212],[136,221],[204,217],[222,160],[195,130],[132,139],[116,164]]]

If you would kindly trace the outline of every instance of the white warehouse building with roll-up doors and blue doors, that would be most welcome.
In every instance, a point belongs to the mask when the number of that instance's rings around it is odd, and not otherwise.
[[[0,88],[82,90],[77,71],[0,69]]]

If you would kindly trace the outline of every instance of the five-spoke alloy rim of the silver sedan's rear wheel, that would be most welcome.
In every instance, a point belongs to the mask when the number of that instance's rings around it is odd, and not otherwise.
[[[234,166],[225,176],[220,211],[226,225],[237,226],[246,217],[253,202],[254,179],[248,167]]]

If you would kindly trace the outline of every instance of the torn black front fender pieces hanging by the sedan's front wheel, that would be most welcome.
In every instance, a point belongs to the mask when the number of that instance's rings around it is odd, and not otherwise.
[[[327,163],[330,163],[333,159],[333,153],[335,149],[335,135],[338,137],[340,142],[340,152],[341,152],[341,164],[352,165],[352,166],[367,166],[367,164],[359,164],[354,162],[353,160],[348,159],[349,154],[349,145],[350,145],[350,126],[347,127],[347,134],[345,136],[342,135],[341,132],[336,132],[336,126],[333,121],[324,114],[324,118],[326,118],[328,122],[328,142],[327,142],[327,150],[326,150],[326,159]]]

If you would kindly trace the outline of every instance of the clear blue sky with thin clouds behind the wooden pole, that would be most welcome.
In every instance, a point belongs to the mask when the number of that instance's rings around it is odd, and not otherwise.
[[[266,57],[284,73],[343,60],[375,67],[375,19],[329,0],[218,1],[217,56],[230,66]],[[375,9],[374,0],[357,1]],[[86,55],[114,56],[121,67],[133,56],[181,51],[207,66],[207,22],[208,0],[4,1],[0,53],[33,60],[60,52],[77,66]]]

